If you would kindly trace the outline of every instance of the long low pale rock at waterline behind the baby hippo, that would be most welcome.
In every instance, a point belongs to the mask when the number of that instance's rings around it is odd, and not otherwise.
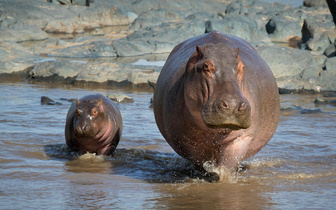
[[[86,81],[150,88],[148,81],[156,83],[160,69],[157,66],[134,66],[115,62],[46,61],[36,64],[29,71],[29,77],[50,82],[74,84]]]

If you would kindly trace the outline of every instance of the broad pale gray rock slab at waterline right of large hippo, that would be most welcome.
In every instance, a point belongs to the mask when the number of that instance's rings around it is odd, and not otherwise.
[[[326,58],[309,51],[276,46],[257,49],[282,90],[332,91],[336,89],[336,57]]]

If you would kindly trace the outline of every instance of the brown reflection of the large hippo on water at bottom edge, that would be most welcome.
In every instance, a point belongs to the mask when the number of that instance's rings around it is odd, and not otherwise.
[[[197,208],[197,209],[269,209],[272,186],[241,185],[229,183],[190,183],[178,185],[157,185],[155,191],[161,194],[155,208]]]

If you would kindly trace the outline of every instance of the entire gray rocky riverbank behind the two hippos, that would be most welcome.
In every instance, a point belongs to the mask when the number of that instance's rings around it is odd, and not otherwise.
[[[283,92],[336,91],[336,30],[324,1],[2,0],[0,81],[147,87],[178,43],[219,30],[250,42]],[[19,76],[18,76],[19,75]]]

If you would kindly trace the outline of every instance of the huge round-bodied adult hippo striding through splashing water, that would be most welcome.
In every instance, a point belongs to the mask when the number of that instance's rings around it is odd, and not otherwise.
[[[234,172],[275,133],[279,93],[250,44],[213,31],[170,53],[155,87],[154,114],[180,156],[206,170],[212,164]]]

